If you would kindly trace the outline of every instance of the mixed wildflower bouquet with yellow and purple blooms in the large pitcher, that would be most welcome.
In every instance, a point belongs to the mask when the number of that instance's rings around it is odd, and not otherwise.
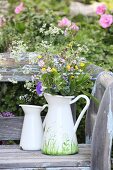
[[[36,92],[41,96],[44,92],[53,95],[70,96],[82,91],[88,85],[90,76],[85,69],[88,62],[80,57],[82,52],[87,52],[87,47],[78,45],[73,50],[71,42],[57,55],[45,53],[38,55],[38,75],[35,75]]]

